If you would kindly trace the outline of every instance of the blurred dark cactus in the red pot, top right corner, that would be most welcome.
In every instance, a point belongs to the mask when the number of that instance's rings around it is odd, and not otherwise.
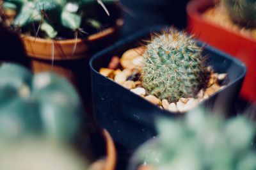
[[[234,22],[245,27],[256,27],[255,0],[221,0]]]

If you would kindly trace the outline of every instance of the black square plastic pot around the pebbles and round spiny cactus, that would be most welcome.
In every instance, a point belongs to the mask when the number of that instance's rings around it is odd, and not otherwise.
[[[118,145],[118,151],[132,152],[141,143],[154,137],[154,121],[158,116],[176,118],[182,115],[151,104],[98,72],[99,68],[108,66],[112,56],[122,56],[126,50],[138,47],[141,40],[147,39],[150,33],[162,29],[163,27],[143,29],[95,54],[90,60],[95,120],[110,132]],[[198,45],[202,43],[198,42]],[[214,109],[225,114],[234,113],[232,107],[243,84],[246,67],[241,61],[208,45],[204,47],[204,54],[207,56],[207,65],[211,65],[215,72],[228,73],[229,82],[200,106],[210,111]]]

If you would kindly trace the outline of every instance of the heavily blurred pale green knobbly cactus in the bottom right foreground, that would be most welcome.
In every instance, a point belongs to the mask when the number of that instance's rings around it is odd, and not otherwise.
[[[159,135],[143,144],[131,160],[158,169],[255,170],[253,139],[256,128],[243,117],[220,117],[190,112],[184,120],[157,121]]]

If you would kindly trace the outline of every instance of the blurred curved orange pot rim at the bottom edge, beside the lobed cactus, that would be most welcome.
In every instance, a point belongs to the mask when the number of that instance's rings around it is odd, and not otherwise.
[[[106,141],[106,164],[102,170],[114,170],[116,166],[116,148],[113,139],[106,129],[102,130],[102,135]]]

